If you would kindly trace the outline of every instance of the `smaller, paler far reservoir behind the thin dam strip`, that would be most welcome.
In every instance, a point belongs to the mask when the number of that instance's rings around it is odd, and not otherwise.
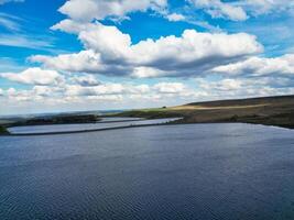
[[[13,127],[10,128],[9,131],[13,134],[83,131],[83,130],[96,130],[96,129],[119,128],[129,125],[160,124],[174,121],[177,119],[179,118],[153,119],[153,120],[140,120],[139,118],[105,118],[102,119],[102,121],[97,123]]]

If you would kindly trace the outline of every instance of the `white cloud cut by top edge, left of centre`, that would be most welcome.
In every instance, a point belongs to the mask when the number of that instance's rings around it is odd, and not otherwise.
[[[77,21],[91,21],[109,16],[124,18],[128,13],[149,9],[159,11],[166,6],[166,0],[68,0],[59,12]]]

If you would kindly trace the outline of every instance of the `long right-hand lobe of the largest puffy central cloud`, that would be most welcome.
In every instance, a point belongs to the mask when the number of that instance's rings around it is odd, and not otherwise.
[[[263,50],[254,36],[246,33],[200,33],[195,30],[184,31],[181,37],[171,35],[157,41],[142,41],[130,48],[132,61],[160,66],[162,69],[165,69],[166,64],[200,66],[202,64],[197,63],[207,64],[206,59],[214,63],[260,53]]]

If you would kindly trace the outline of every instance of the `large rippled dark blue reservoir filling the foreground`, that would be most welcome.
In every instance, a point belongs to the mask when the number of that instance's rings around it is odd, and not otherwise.
[[[294,219],[292,130],[190,124],[0,138],[0,219]]]

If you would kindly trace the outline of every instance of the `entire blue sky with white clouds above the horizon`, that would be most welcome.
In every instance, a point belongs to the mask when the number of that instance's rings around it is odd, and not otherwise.
[[[294,94],[294,0],[0,0],[0,114]]]

